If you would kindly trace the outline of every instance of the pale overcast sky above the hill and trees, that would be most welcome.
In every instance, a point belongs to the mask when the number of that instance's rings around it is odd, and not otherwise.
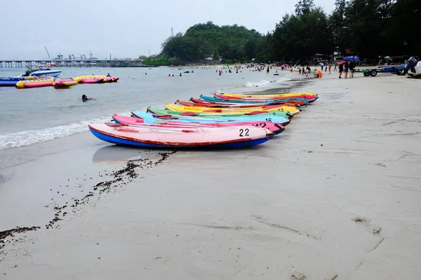
[[[42,2],[42,3],[41,3]],[[58,52],[95,57],[138,57],[157,54],[171,35],[190,26],[243,25],[260,33],[272,31],[295,0],[22,0],[2,1],[0,59],[48,59]],[[27,3],[27,4],[26,4]],[[29,4],[30,3],[30,4]],[[334,0],[314,0],[326,12]],[[6,12],[6,13],[5,13]],[[7,27],[7,28],[6,28]]]

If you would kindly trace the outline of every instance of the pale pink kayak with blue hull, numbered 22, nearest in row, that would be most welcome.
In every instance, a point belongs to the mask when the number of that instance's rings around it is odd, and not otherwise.
[[[261,127],[157,128],[91,123],[89,130],[102,141],[145,148],[240,148],[274,137]]]

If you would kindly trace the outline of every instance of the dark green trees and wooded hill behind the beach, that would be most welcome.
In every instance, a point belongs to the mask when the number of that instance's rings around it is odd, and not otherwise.
[[[160,57],[180,62],[222,57],[226,62],[309,61],[316,54],[420,55],[421,0],[335,0],[327,14],[313,0],[299,0],[272,32],[238,25],[198,24],[162,43]]]

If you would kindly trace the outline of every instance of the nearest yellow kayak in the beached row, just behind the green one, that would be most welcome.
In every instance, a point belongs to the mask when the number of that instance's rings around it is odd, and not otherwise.
[[[255,111],[283,111],[292,113],[296,115],[300,113],[300,110],[293,106],[279,106],[276,108],[265,108],[265,107],[253,107],[253,108],[209,108],[209,107],[190,107],[190,106],[180,106],[175,104],[165,104],[167,110],[177,111],[177,112],[196,112],[196,113],[251,113]]]

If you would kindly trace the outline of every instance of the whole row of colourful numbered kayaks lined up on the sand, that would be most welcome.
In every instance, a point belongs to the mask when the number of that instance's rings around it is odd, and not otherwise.
[[[311,92],[214,94],[177,100],[165,109],[133,110],[132,116],[114,114],[112,123],[91,123],[89,129],[103,141],[145,148],[256,146],[283,132],[293,116],[316,99]]]

